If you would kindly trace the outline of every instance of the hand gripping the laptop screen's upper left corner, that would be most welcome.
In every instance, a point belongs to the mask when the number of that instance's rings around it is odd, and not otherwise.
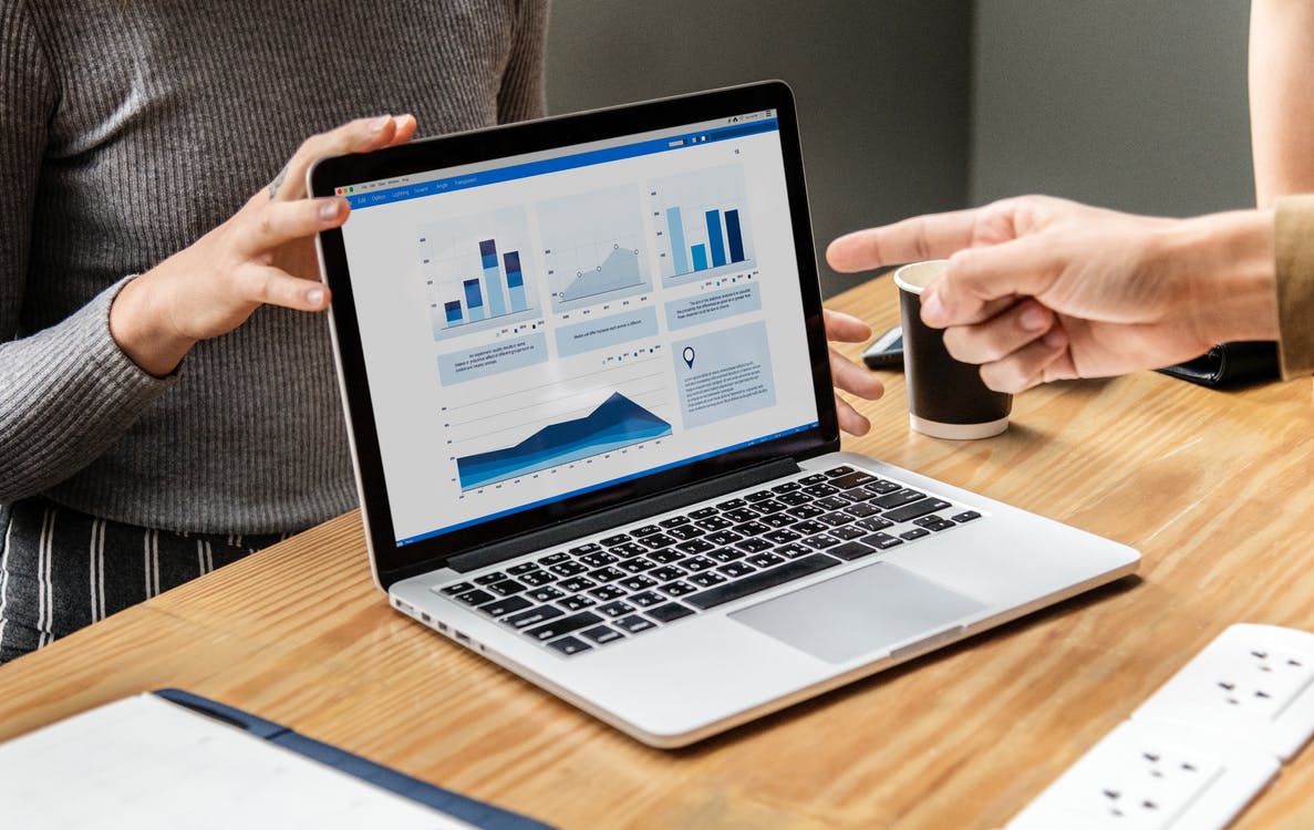
[[[306,171],[325,156],[409,142],[415,126],[411,116],[384,116],[307,138],[233,218],[124,286],[109,310],[114,341],[163,377],[198,340],[233,331],[261,305],[328,307],[313,240],[346,222],[350,206],[340,197],[306,198]]]

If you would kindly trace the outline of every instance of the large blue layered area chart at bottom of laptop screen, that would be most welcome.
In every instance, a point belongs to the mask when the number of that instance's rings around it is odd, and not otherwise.
[[[637,349],[624,357],[444,411],[461,491],[595,466],[670,435],[674,402],[665,356],[661,349]]]

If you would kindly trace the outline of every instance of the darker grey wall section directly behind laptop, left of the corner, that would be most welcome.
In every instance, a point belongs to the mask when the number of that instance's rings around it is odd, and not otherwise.
[[[548,105],[788,81],[820,255],[848,230],[964,202],[970,38],[961,0],[553,0]],[[854,284],[821,268],[827,294]]]

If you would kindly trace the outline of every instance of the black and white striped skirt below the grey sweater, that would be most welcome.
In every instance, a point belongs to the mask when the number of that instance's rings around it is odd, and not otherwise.
[[[0,507],[0,663],[289,536],[171,533],[41,496]]]

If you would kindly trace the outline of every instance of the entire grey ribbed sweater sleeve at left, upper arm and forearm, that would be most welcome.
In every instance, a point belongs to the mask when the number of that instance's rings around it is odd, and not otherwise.
[[[24,331],[33,213],[59,89],[26,0],[0,0],[0,503],[63,481],[104,452],[171,385],[109,334],[124,281],[60,323]],[[126,280],[125,280],[126,281]]]

